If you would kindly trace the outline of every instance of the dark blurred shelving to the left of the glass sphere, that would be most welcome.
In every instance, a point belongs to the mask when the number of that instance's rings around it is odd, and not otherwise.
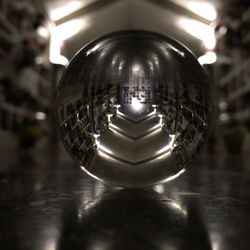
[[[50,109],[49,36],[38,32],[49,21],[43,4],[37,0],[0,2],[0,130],[18,130],[24,120],[35,120],[36,112]],[[28,105],[27,98],[34,105]]]

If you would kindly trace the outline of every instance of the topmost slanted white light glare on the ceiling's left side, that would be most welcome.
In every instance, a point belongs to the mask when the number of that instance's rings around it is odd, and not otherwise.
[[[74,11],[80,9],[82,6],[83,6],[83,1],[72,1],[72,2],[70,1],[64,4],[63,7],[52,10],[49,15],[53,21],[57,21],[73,13]]]

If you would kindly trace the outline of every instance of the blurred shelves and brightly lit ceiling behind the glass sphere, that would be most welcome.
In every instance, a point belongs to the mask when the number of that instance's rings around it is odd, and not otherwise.
[[[249,1],[1,0],[0,11],[0,152],[14,155],[11,147],[35,150],[55,139],[53,95],[64,66],[88,42],[125,29],[186,45],[216,90],[206,150],[249,152]]]

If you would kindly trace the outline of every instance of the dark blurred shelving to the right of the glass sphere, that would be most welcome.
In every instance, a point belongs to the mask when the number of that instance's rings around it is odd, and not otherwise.
[[[230,63],[215,65],[219,98],[227,106],[221,110],[228,117],[222,123],[244,123],[250,120],[247,108],[250,104],[247,97],[250,94],[250,3],[230,1],[220,14],[217,54],[219,58],[231,58]]]

